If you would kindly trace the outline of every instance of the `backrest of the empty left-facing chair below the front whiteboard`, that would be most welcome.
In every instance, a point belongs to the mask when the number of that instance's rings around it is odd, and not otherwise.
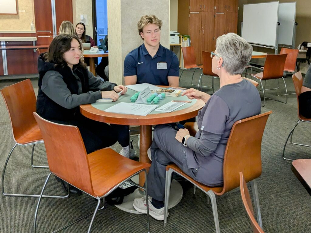
[[[266,57],[262,80],[281,78],[284,72],[286,56],[287,54],[268,54]]]

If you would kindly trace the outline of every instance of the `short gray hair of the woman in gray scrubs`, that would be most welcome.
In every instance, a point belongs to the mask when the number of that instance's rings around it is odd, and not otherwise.
[[[253,47],[235,33],[223,34],[216,40],[217,55],[230,75],[242,74],[252,58]]]

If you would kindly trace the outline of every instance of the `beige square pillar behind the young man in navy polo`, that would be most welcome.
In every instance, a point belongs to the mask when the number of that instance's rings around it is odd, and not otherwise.
[[[137,22],[141,16],[154,14],[162,20],[160,43],[169,48],[169,0],[107,1],[107,11],[109,80],[121,84],[125,56],[143,43],[137,30]]]

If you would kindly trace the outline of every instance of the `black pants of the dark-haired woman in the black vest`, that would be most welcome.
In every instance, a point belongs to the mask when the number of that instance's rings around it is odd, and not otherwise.
[[[53,121],[53,120],[52,120]],[[77,113],[77,116],[70,121],[53,121],[55,123],[78,126],[86,153],[92,153],[116,143],[118,132],[106,123],[93,121]]]

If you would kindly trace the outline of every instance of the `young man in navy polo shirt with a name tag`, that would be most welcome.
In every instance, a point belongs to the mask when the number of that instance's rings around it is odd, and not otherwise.
[[[144,43],[132,50],[124,60],[125,85],[150,83],[178,87],[179,61],[175,53],[160,44],[162,21],[155,15],[145,15],[137,23],[138,34]],[[128,126],[113,125],[119,132],[120,154],[129,154]]]

